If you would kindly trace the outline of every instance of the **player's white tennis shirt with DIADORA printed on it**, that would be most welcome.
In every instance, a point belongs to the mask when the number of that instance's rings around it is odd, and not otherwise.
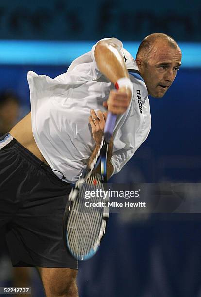
[[[113,174],[133,156],[151,128],[147,88],[137,74],[138,67],[120,40],[108,38],[120,51],[133,82],[133,96],[127,111],[117,119],[111,163]],[[66,182],[74,183],[95,148],[89,124],[90,109],[95,112],[106,101],[114,85],[99,71],[93,46],[75,59],[67,72],[52,79],[29,71],[32,131],[36,144],[51,169],[61,171]],[[54,171],[54,173],[57,173]]]

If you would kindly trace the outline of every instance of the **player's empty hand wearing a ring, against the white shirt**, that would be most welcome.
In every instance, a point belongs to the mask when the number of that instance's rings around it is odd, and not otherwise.
[[[94,109],[91,109],[90,113],[91,116],[89,117],[89,123],[92,128],[93,138],[96,145],[100,147],[105,127],[105,121],[107,118],[107,112],[102,113],[101,110],[98,110],[96,114]]]

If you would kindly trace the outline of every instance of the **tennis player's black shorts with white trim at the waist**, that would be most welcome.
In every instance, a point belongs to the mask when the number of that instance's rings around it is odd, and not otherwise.
[[[14,267],[77,269],[65,249],[62,219],[71,190],[16,139],[0,137],[0,229]]]

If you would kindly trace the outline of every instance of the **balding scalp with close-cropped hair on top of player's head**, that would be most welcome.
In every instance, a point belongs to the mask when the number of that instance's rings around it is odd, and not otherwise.
[[[174,49],[178,48],[176,41],[172,37],[164,33],[153,33],[145,37],[140,43],[139,49],[136,54],[136,59],[142,59],[146,63],[153,47],[157,43],[161,42],[169,45]]]

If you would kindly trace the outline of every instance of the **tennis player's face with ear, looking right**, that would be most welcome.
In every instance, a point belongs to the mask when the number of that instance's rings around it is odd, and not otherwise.
[[[147,63],[137,61],[139,71],[145,81],[148,94],[161,98],[174,81],[179,66],[181,65],[181,50],[174,48],[167,41],[156,41],[150,53]]]

